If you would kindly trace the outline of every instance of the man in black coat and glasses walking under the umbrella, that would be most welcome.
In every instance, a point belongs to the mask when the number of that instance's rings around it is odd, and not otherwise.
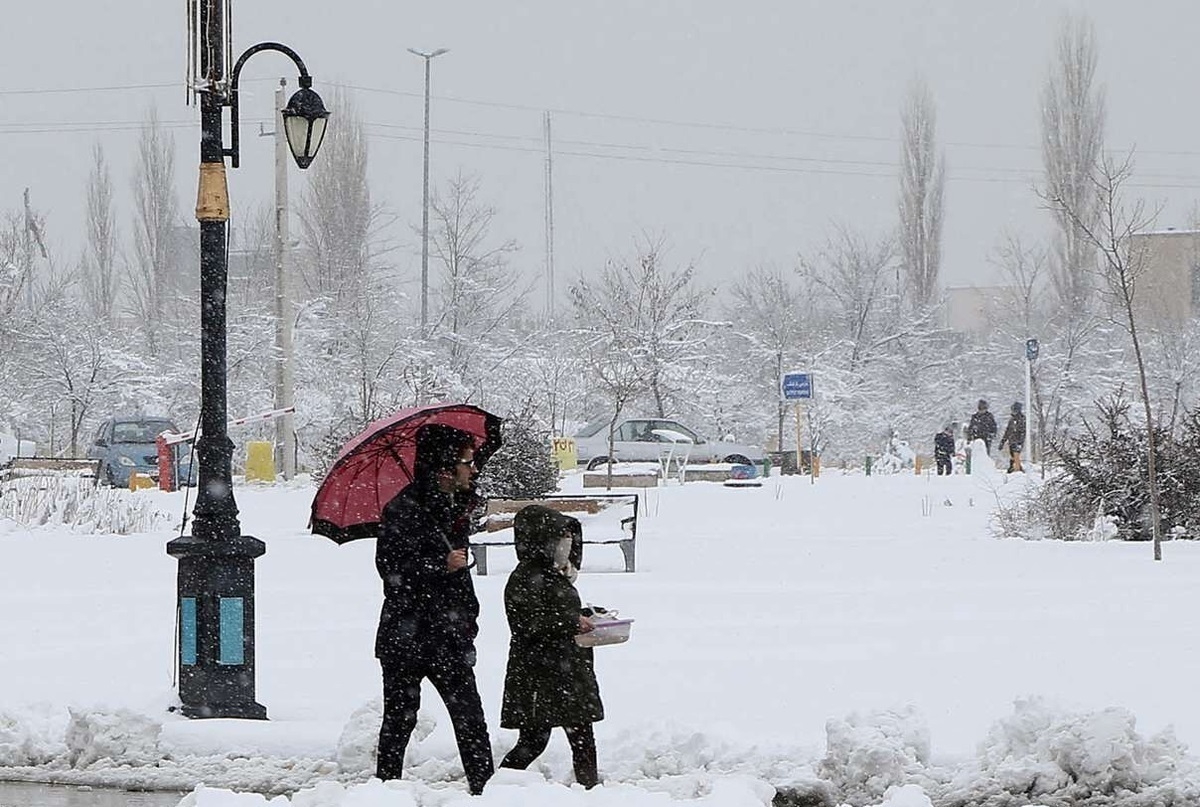
[[[398,779],[428,679],[445,701],[467,784],[479,794],[494,764],[475,683],[479,600],[467,549],[478,503],[474,441],[431,424],[416,432],[413,482],[383,509],[376,568],[384,602],[376,633],[383,725],[376,775]]]

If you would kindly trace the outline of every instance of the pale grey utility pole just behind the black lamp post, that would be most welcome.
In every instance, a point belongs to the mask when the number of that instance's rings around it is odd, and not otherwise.
[[[294,406],[292,295],[288,289],[288,138],[283,132],[284,88],[275,88],[275,408]],[[296,473],[296,436],[289,412],[275,422],[275,467],[284,479]]]

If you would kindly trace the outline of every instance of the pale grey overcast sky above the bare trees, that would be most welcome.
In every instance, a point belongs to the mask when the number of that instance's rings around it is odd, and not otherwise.
[[[899,107],[919,73],[949,168],[943,281],[966,285],[992,280],[988,255],[1004,229],[1045,234],[1031,190],[1038,95],[1068,8],[1097,28],[1109,144],[1136,147],[1136,192],[1164,205],[1160,226],[1186,226],[1200,193],[1194,0],[233,0],[233,28],[236,50],[294,47],[318,91],[354,88],[374,199],[402,222],[390,257],[404,273],[420,264],[409,225],[420,221],[422,125],[421,61],[406,48],[451,49],[433,62],[433,183],[478,174],[496,234],[521,244],[515,262],[530,276],[544,265],[541,110],[554,110],[560,288],[643,231],[712,282],[791,265],[834,222],[886,232]],[[191,215],[198,125],[185,106],[185,40],[184,0],[6,8],[0,209],[19,208],[30,187],[60,261],[82,246],[91,145],[106,148],[127,201],[136,125],[151,103],[172,126]],[[280,76],[293,72],[271,54],[244,73],[235,219],[271,195],[257,120]],[[76,88],[124,89],[65,91]],[[300,172],[292,183],[295,198]]]

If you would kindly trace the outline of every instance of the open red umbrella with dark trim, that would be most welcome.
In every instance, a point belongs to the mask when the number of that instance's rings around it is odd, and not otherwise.
[[[469,404],[402,410],[376,420],[342,447],[325,474],[312,500],[312,531],[338,544],[378,536],[384,506],[413,480],[416,430],[431,423],[472,435],[479,467],[500,447],[500,419]]]

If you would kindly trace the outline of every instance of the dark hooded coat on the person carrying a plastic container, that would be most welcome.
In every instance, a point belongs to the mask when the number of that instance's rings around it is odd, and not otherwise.
[[[553,566],[554,546],[564,532],[580,532],[578,521],[530,504],[517,513],[514,532],[518,562],[504,586],[512,638],[500,727],[574,728],[601,721],[592,648],[575,644],[580,594]]]

